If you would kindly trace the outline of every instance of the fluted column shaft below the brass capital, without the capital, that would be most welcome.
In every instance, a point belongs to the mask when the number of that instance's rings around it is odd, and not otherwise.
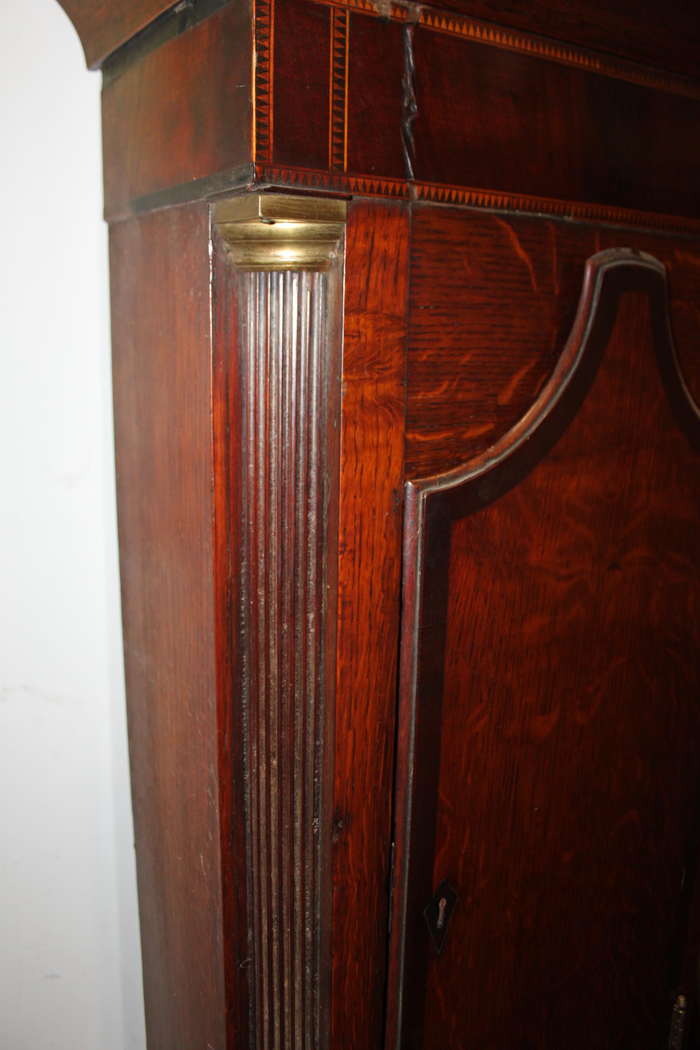
[[[331,835],[323,820],[324,779],[332,782],[326,682],[334,680],[324,668],[326,509],[338,474],[328,453],[339,429],[328,418],[339,398],[328,390],[339,383],[340,350],[328,302],[333,313],[338,273],[249,274],[239,286],[248,300],[241,554],[258,1050],[318,1050],[322,1043],[319,968],[330,928],[321,918],[332,889],[322,869],[323,836]]]

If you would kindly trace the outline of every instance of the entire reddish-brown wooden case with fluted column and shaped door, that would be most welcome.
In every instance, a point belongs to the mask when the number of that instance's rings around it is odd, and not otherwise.
[[[149,1046],[697,1040],[696,13],[65,5]],[[276,194],[347,203],[327,274],[236,269]]]

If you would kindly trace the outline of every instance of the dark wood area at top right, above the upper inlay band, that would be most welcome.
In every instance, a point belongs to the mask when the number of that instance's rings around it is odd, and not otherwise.
[[[441,0],[471,18],[596,47],[660,69],[697,77],[700,13],[685,0]]]

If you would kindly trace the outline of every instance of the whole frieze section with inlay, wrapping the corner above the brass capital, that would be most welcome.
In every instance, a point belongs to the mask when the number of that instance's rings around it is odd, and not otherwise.
[[[255,183],[700,232],[699,81],[429,5],[415,25],[365,7],[234,0],[122,63],[107,214]]]

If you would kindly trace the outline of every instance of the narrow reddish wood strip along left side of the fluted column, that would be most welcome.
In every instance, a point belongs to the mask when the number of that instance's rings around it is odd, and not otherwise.
[[[241,484],[246,435],[239,381],[246,295],[236,295],[228,249],[212,231],[212,465],[216,721],[221,852],[221,921],[227,1050],[254,1037],[255,984],[250,923],[250,763],[246,688],[246,608],[240,552],[246,544]]]

